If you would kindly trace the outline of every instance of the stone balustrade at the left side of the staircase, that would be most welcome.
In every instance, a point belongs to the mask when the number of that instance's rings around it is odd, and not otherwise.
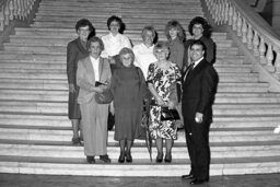
[[[2,0],[0,2],[0,32],[14,20],[26,20],[36,0]]]

